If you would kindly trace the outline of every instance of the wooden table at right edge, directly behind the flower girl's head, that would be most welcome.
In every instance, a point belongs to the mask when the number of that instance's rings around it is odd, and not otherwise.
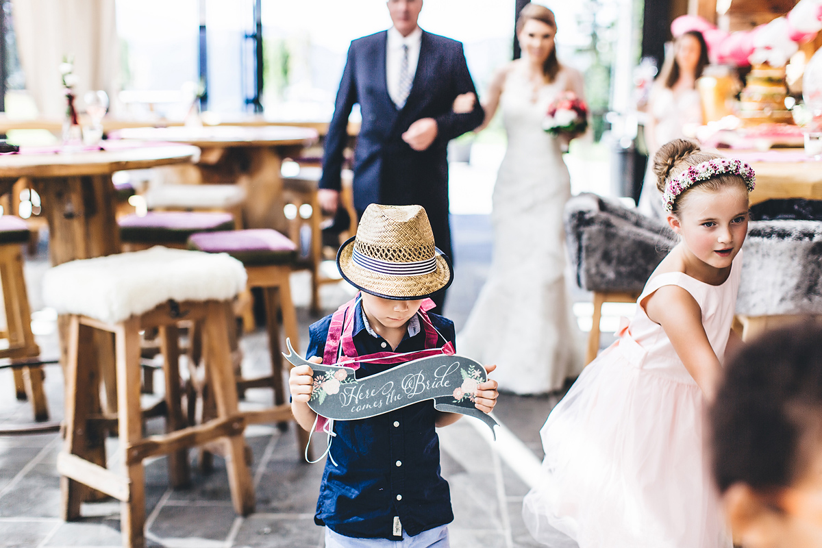
[[[750,163],[756,172],[756,187],[750,204],[774,198],[822,200],[822,161],[805,155],[802,149],[719,150],[728,158]]]

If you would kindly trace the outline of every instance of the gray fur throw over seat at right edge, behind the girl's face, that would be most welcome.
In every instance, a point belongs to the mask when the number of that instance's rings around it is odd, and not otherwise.
[[[737,314],[822,314],[822,222],[751,221]]]

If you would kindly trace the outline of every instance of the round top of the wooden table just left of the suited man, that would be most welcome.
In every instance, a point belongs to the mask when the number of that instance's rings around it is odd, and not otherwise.
[[[312,145],[319,133],[311,127],[203,126],[132,127],[115,131],[120,139],[164,140],[202,148],[229,146]]]

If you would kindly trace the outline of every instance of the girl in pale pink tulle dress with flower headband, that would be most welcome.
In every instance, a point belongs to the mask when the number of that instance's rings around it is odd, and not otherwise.
[[[620,339],[594,360],[543,426],[541,477],[523,514],[580,548],[730,548],[703,458],[731,333],[754,172],[687,140],[654,158],[667,223],[680,234]]]

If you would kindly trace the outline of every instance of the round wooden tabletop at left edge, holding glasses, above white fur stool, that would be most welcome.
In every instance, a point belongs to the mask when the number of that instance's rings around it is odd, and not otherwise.
[[[109,150],[76,150],[66,148],[21,149],[21,154],[0,154],[0,179],[20,177],[78,177],[105,175],[123,169],[154,168],[172,163],[196,161],[200,150],[192,145],[175,143],[134,143],[105,145]]]

